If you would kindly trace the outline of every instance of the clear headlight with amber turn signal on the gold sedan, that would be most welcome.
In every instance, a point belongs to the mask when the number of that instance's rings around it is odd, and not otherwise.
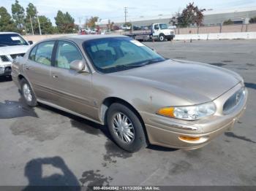
[[[164,107],[157,111],[157,114],[165,117],[173,117],[181,120],[199,120],[208,117],[216,112],[216,106],[213,102],[195,106],[173,106]]]

